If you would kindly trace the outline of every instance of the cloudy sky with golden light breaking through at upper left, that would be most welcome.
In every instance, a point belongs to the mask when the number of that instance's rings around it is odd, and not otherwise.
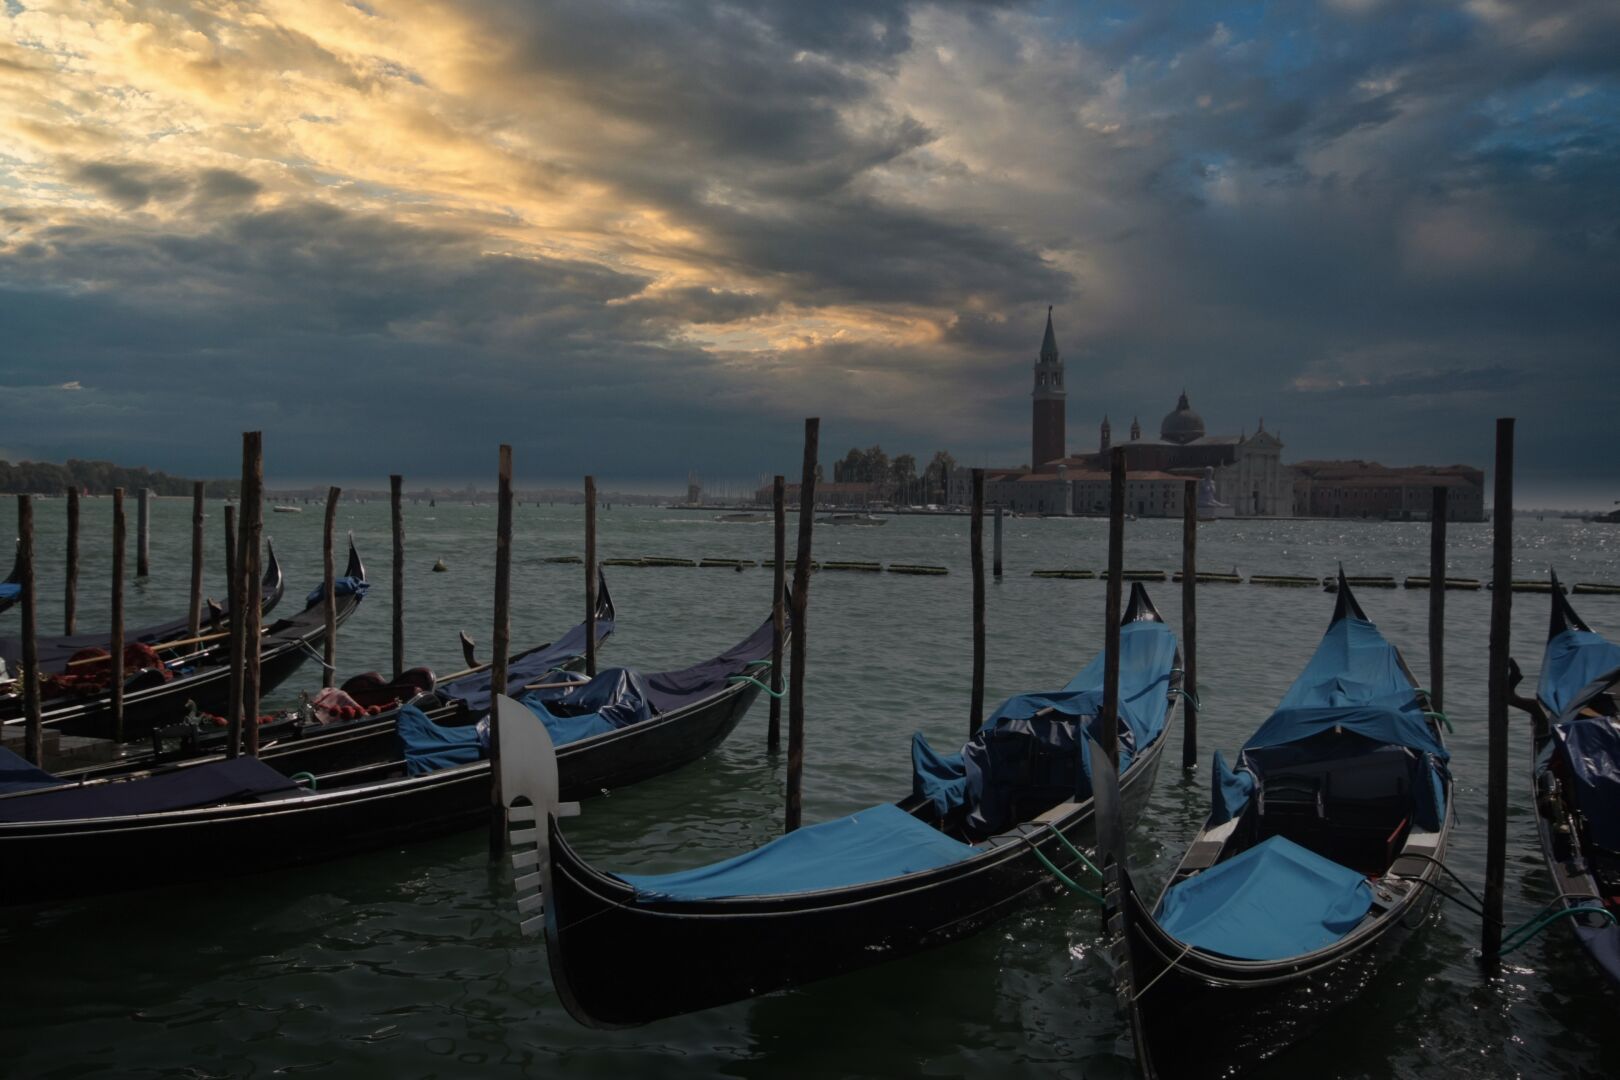
[[[1053,304],[1072,449],[1620,497],[1614,0],[0,3],[0,457],[1019,463]]]

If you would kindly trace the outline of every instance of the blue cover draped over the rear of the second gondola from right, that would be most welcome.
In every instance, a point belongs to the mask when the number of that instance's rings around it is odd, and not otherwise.
[[[1298,743],[1322,732],[1356,732],[1380,743],[1409,746],[1424,755],[1429,798],[1419,801],[1426,827],[1439,827],[1443,814],[1445,763],[1450,753],[1435,738],[1400,651],[1366,619],[1343,615],[1322,635],[1311,662],[1283,695],[1281,704],[1243,745],[1244,755],[1267,746]],[[1249,767],[1247,756],[1239,767]],[[1247,801],[1238,801],[1241,785],[1220,763],[1212,777],[1217,813],[1228,819]],[[1249,769],[1252,774],[1254,769]],[[1249,784],[1252,789],[1252,782]],[[1432,816],[1432,819],[1430,819]],[[1218,823],[1217,823],[1218,824]]]

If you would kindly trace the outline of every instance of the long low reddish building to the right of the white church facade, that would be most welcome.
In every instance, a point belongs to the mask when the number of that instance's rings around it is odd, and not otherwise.
[[[1469,465],[1301,461],[1294,465],[1294,513],[1314,518],[1427,520],[1434,489],[1445,487],[1445,517],[1486,520],[1486,474]]]

